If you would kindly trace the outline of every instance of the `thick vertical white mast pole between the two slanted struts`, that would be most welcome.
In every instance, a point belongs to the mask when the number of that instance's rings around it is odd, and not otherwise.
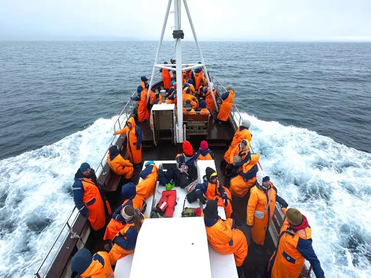
[[[180,11],[181,0],[174,0],[175,30],[181,30]],[[177,106],[178,106],[178,143],[182,143],[183,136],[183,84],[182,84],[182,39],[177,38],[175,48],[175,59],[177,67]]]

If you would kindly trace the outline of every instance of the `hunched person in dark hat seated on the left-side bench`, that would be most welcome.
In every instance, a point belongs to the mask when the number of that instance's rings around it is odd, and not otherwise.
[[[133,177],[133,164],[124,159],[119,152],[119,147],[113,145],[108,149],[107,163],[116,175],[124,176],[125,179]]]

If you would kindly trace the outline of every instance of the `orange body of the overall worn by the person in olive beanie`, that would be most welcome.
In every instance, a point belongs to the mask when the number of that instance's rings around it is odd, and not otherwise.
[[[290,229],[289,222],[285,218],[282,224],[277,248],[274,251],[269,266],[272,266],[272,277],[299,277],[304,266],[305,258],[297,249],[300,240],[311,240],[312,230],[310,226],[295,231]]]

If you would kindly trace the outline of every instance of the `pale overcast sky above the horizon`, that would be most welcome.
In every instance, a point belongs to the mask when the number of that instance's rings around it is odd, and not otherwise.
[[[167,0],[0,0],[0,38],[158,40]],[[371,0],[188,0],[200,40],[371,41]],[[170,14],[165,39],[172,39]],[[186,13],[182,29],[192,39]]]

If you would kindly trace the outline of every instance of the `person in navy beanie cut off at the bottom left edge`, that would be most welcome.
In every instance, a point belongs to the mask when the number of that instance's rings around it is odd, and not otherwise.
[[[71,270],[81,278],[114,278],[115,276],[107,252],[99,251],[92,256],[86,248],[74,254]]]

